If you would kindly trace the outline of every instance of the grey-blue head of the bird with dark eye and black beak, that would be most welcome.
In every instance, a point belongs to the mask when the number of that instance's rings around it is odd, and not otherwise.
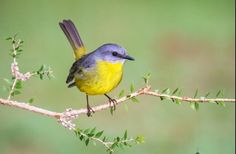
[[[128,55],[125,48],[113,43],[102,45],[94,51],[94,54],[97,58],[112,63],[124,63],[125,60],[134,60],[134,58]]]

